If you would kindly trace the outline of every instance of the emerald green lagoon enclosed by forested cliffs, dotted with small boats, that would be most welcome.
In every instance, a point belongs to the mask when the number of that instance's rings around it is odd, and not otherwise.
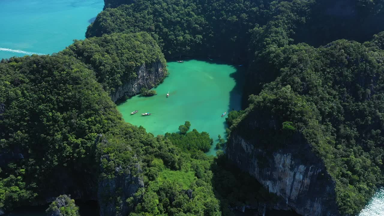
[[[237,78],[241,67],[200,60],[168,62],[167,65],[169,76],[154,88],[157,95],[134,96],[119,104],[118,110],[125,121],[141,125],[154,135],[176,132],[184,121],[190,121],[191,129],[206,131],[214,139],[208,152],[214,155],[217,135],[227,136],[227,115],[220,116],[223,112],[228,114],[232,109],[241,108],[242,86]],[[139,112],[131,115],[134,110]],[[146,112],[153,114],[141,115]]]

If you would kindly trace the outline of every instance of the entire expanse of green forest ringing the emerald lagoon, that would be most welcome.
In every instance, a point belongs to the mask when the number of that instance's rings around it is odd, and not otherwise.
[[[215,56],[247,66],[244,94],[251,96],[245,110],[229,113],[230,129],[263,137],[258,145],[271,150],[302,135],[335,184],[339,213],[358,213],[384,180],[383,5],[106,0],[87,39],[52,56],[1,61],[0,210],[61,194],[97,199],[101,216],[219,216],[233,214],[228,207],[278,202],[222,152],[204,155],[207,133],[183,125],[180,134],[154,137],[124,123],[109,98],[142,64]],[[366,28],[378,34],[368,40]],[[250,113],[273,116],[279,126],[251,131],[244,126]]]

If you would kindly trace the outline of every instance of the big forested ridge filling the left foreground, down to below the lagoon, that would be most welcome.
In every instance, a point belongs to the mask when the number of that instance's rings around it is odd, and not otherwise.
[[[81,61],[63,53],[10,58],[0,63],[0,73],[2,210],[47,196],[100,193],[99,202],[113,214],[128,206],[132,216],[220,215],[211,183],[213,158],[199,147],[182,151],[164,136],[125,123]],[[205,132],[184,136],[185,142],[211,142]],[[131,197],[112,187],[124,176],[140,182]],[[98,188],[101,182],[113,189]],[[77,212],[56,204],[50,210]]]

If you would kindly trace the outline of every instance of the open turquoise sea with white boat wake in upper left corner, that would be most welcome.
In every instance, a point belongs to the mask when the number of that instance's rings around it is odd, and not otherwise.
[[[84,39],[103,0],[0,0],[0,60],[52,54]]]

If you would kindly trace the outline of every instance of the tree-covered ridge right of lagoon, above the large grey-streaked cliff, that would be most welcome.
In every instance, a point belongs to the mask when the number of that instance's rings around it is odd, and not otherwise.
[[[357,214],[383,184],[381,40],[382,33],[364,44],[338,40],[319,48],[306,44],[278,48],[278,58],[267,59],[275,65],[275,80],[250,96],[245,113],[228,115],[232,127],[250,111],[275,116],[280,123],[292,122],[291,127],[282,124],[277,130],[303,133],[336,181],[343,214]]]

